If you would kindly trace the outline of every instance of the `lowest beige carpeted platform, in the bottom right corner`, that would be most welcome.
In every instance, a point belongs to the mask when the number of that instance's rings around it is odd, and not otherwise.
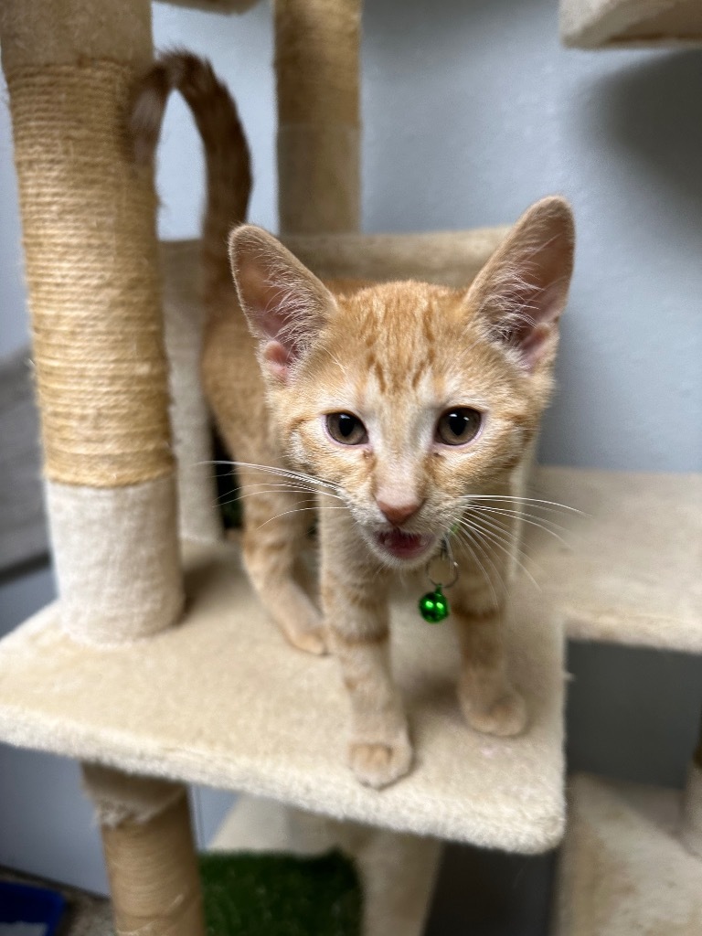
[[[553,936],[699,936],[702,859],[677,837],[680,799],[573,779]]]

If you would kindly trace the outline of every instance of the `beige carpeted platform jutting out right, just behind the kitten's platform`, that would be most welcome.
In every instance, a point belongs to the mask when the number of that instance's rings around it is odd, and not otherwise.
[[[564,543],[526,528],[568,636],[702,651],[702,475],[542,467],[534,496],[583,511],[541,514],[567,528]]]

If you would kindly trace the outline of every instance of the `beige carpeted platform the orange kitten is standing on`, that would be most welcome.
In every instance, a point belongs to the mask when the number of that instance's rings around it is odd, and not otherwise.
[[[0,644],[0,739],[127,771],[254,792],[337,818],[538,852],[563,831],[563,640],[533,589],[512,636],[525,737],[469,730],[448,627],[395,614],[417,766],[383,792],[345,767],[346,698],[331,658],[292,650],[234,548],[193,548],[183,625],[128,647],[73,643],[49,607]]]

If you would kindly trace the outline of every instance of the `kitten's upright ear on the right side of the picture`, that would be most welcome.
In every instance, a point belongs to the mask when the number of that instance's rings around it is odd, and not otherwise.
[[[574,246],[570,205],[561,197],[542,198],[521,215],[468,290],[490,337],[529,372],[553,358]]]

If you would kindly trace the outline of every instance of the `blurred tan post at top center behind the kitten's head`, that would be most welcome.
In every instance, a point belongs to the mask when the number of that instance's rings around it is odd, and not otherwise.
[[[284,234],[358,230],[360,0],[276,0]]]

